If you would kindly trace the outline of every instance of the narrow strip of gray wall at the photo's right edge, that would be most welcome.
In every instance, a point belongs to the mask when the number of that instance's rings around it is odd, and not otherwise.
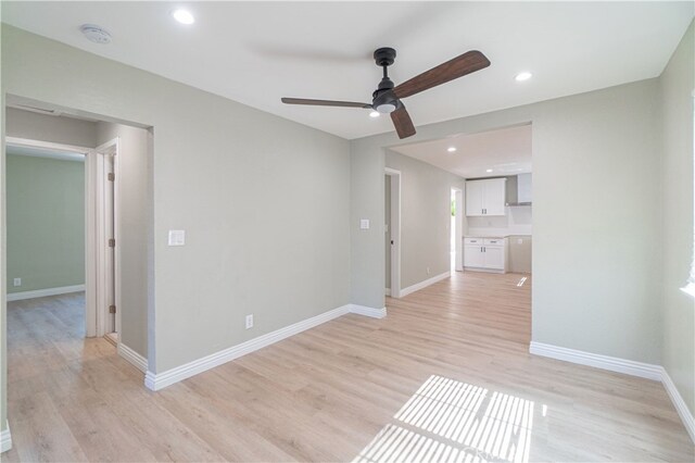
[[[693,255],[693,24],[660,79],[664,123],[664,367],[695,414],[695,301],[680,290]]]

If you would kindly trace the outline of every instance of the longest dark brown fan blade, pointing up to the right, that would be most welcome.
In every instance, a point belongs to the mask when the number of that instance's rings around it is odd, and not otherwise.
[[[439,66],[424,72],[396,86],[393,92],[397,98],[410,97],[420,91],[445,84],[466,74],[475,73],[490,65],[490,60],[478,50],[467,51]]]

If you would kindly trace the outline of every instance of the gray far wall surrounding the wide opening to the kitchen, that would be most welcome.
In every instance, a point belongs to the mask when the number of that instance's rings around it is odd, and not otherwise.
[[[656,79],[639,82],[420,126],[405,141],[533,123],[535,341],[660,362],[657,90]],[[353,216],[383,216],[383,147],[402,142],[395,134],[352,141],[353,159],[369,162],[353,168]],[[363,273],[353,293],[375,308],[382,246],[380,234],[353,240]]]

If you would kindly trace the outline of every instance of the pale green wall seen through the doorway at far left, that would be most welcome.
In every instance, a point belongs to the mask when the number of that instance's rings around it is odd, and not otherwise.
[[[8,292],[84,285],[85,163],[8,151]]]

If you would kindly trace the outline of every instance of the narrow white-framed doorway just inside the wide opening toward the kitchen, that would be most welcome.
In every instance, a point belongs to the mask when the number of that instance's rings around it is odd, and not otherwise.
[[[401,171],[384,175],[384,293],[401,297]]]

